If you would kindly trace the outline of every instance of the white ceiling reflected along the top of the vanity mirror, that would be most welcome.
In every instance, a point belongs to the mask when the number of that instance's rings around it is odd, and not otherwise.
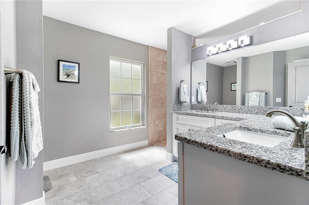
[[[208,57],[206,61],[211,64],[225,67],[232,65],[226,65],[225,62],[237,62],[238,57],[248,57],[252,55],[268,53],[271,51],[290,50],[303,46],[309,46],[309,33],[299,34],[296,36],[283,38],[277,41],[272,41],[257,46],[249,46],[248,48],[243,48],[239,50],[232,50],[226,53],[214,54]]]

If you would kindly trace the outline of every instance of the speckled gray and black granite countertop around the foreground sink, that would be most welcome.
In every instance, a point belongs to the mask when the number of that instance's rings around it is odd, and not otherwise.
[[[265,115],[197,110],[171,112],[182,115],[239,120],[235,123],[176,134],[175,139],[309,181],[309,170],[307,164],[305,164],[305,149],[290,146],[294,138],[294,132],[274,128],[271,124],[272,118]],[[287,138],[275,147],[264,147],[217,136],[237,129],[285,136]],[[308,132],[306,131],[306,145],[309,141],[307,136]],[[308,162],[307,158],[306,162]]]

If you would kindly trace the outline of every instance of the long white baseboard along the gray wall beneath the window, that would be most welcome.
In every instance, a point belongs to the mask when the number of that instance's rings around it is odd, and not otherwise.
[[[136,142],[136,143],[130,143],[130,144],[125,144],[125,145],[121,145],[117,147],[106,148],[103,150],[87,152],[87,153],[80,154],[80,155],[74,155],[74,156],[65,157],[61,159],[55,159],[52,161],[44,162],[43,171],[55,169],[58,167],[63,167],[63,166],[70,165],[70,164],[75,164],[78,162],[83,162],[83,161],[90,160],[90,159],[103,157],[106,155],[112,155],[118,152],[127,151],[127,150],[135,149],[138,147],[144,147],[144,146],[148,146],[148,139],[140,141],[140,142]]]

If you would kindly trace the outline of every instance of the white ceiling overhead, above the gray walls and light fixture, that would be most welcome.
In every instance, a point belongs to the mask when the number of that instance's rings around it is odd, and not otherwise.
[[[282,9],[263,13],[281,3],[284,2],[43,0],[43,15],[166,50],[167,29],[170,27],[204,38],[207,32],[245,19],[234,28],[237,30],[239,26],[239,32],[256,26],[256,22],[272,20],[273,13],[281,15]]]

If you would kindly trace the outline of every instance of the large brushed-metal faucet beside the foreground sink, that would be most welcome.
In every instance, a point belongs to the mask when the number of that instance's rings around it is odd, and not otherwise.
[[[291,143],[292,147],[298,148],[305,148],[304,140],[305,140],[305,130],[308,128],[308,123],[306,121],[301,121],[300,123],[298,120],[288,112],[281,111],[281,110],[273,110],[266,114],[266,117],[271,117],[275,113],[280,113],[282,115],[287,116],[295,127],[293,127],[293,131],[295,131],[294,139]]]

